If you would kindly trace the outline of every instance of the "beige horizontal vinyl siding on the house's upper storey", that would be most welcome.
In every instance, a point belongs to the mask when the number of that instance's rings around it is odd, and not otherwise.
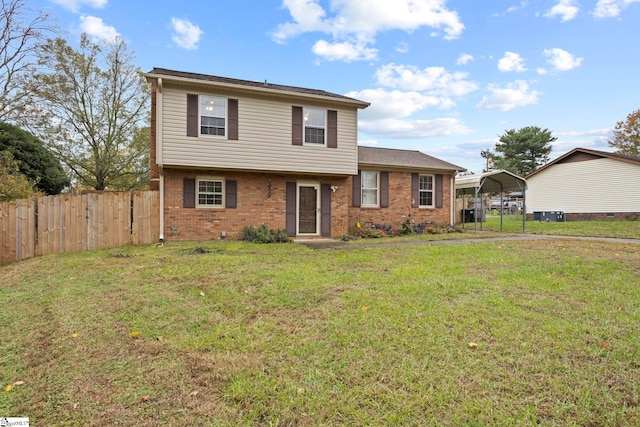
[[[357,111],[314,105],[338,111],[338,148],[291,144],[291,107],[268,98],[238,99],[237,141],[186,136],[187,93],[164,88],[162,103],[162,160],[165,166],[249,169],[321,174],[357,173]],[[202,94],[202,93],[201,93]]]

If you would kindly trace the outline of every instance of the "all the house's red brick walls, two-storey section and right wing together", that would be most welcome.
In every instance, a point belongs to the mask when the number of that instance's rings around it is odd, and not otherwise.
[[[183,180],[212,177],[235,180],[238,185],[237,208],[183,208]],[[414,224],[432,221],[449,223],[450,177],[443,179],[443,207],[411,207],[411,174],[389,173],[389,207],[357,208],[351,206],[351,177],[322,177],[268,173],[206,172],[179,169],[164,170],[164,238],[165,240],[240,238],[245,227],[266,224],[272,229],[286,228],[286,183],[319,182],[336,186],[331,193],[331,236],[348,234],[357,221],[365,225],[387,224],[401,229],[405,219]]]

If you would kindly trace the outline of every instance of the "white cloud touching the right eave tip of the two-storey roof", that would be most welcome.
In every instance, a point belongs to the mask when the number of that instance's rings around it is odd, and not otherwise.
[[[420,92],[399,90],[365,89],[349,92],[346,96],[370,102],[371,106],[359,113],[361,120],[407,117],[428,107],[449,108],[453,102]]]

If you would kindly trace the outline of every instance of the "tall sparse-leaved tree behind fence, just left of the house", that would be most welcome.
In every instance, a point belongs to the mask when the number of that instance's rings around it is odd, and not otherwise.
[[[33,76],[40,117],[31,129],[82,187],[126,189],[148,173],[149,144],[135,136],[148,126],[149,90],[133,60],[120,38],[94,42],[83,34],[79,50],[59,38],[42,49],[47,71]]]

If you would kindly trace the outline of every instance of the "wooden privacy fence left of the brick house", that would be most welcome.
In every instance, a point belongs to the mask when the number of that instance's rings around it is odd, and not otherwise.
[[[0,264],[60,252],[153,243],[159,193],[87,192],[0,203]]]

